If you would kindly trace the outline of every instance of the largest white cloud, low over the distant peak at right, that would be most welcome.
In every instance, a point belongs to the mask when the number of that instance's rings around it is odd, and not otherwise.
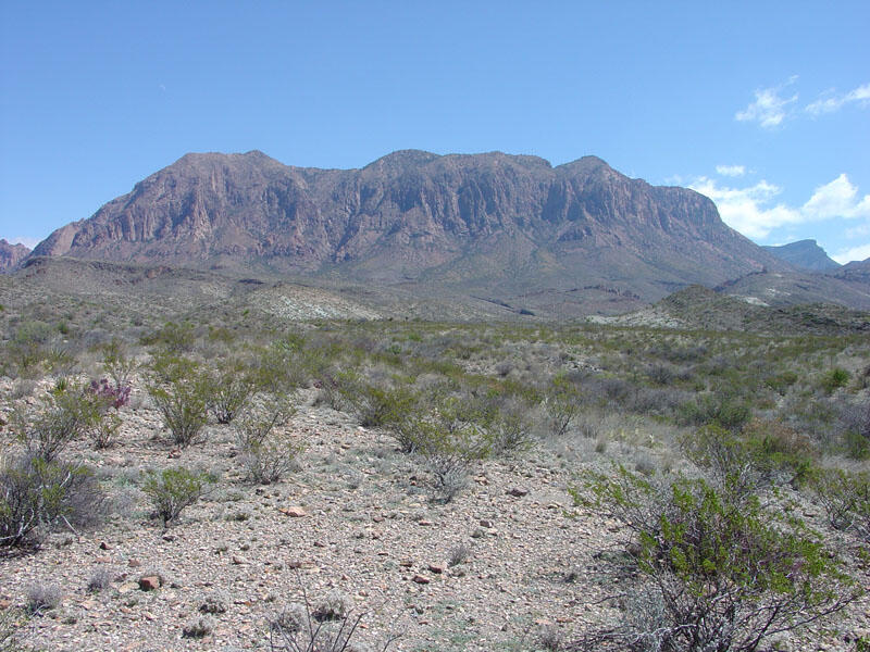
[[[858,196],[845,174],[819,186],[801,206],[774,203],[781,188],[766,180],[746,188],[720,186],[714,179],[700,177],[688,186],[713,200],[729,226],[750,238],[765,238],[781,226],[823,222],[835,218],[870,221],[870,195]]]

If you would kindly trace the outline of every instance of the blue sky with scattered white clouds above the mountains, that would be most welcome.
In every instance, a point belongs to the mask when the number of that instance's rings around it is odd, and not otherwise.
[[[870,256],[870,3],[0,3],[0,237],[189,151],[596,154]]]

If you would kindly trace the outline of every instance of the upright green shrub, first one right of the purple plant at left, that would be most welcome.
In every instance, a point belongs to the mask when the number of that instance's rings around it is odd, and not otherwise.
[[[173,443],[182,448],[192,443],[208,422],[209,385],[199,364],[187,358],[159,355],[146,388]]]

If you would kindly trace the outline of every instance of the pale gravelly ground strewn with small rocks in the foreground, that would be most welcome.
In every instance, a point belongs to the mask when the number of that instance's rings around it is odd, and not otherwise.
[[[13,384],[0,391],[9,403]],[[24,606],[32,587],[59,586],[60,606],[26,632],[59,651],[268,650],[269,618],[302,590],[312,605],[343,593],[364,612],[353,640],[373,650],[393,632],[402,634],[390,647],[399,651],[533,650],[542,631],[568,640],[620,617],[608,597],[624,586],[604,573],[601,552],[616,550],[622,532],[573,506],[567,488],[581,466],[564,444],[482,463],[453,502],[439,504],[422,465],[386,434],[315,397],[302,397],[288,425],[307,444],[298,469],[261,487],[245,482],[231,426],[211,425],[204,442],[174,451],[136,390],[117,446],[71,451],[109,490],[108,523],[0,557],[0,604]],[[588,441],[577,455],[606,462]],[[177,464],[220,480],[163,529],[138,485],[144,471]],[[856,570],[870,587],[867,569]],[[100,577],[104,588],[88,590]],[[865,599],[806,635],[820,643],[785,637],[779,649],[852,649],[849,637],[870,628],[868,606]],[[200,618],[204,637],[185,637]]]

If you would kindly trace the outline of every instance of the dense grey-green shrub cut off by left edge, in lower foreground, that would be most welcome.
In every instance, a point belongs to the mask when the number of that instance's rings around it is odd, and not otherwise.
[[[0,546],[38,543],[59,524],[95,525],[104,496],[90,469],[41,457],[5,461],[0,467]]]

